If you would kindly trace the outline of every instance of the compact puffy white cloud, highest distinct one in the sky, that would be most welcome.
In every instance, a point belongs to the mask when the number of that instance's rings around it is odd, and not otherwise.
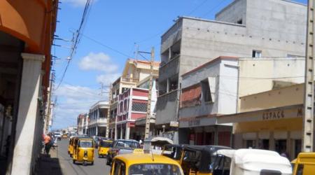
[[[114,72],[118,70],[118,66],[111,62],[111,57],[103,52],[93,53],[83,57],[79,64],[79,68],[82,70],[97,70],[104,72]]]

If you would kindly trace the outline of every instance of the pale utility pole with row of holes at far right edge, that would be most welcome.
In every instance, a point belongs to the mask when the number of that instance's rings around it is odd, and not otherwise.
[[[315,0],[309,0],[307,6],[307,44],[305,51],[304,79],[304,118],[302,152],[313,151],[314,137],[314,6]]]

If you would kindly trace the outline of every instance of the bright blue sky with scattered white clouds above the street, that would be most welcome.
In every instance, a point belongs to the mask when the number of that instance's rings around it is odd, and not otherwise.
[[[56,35],[71,39],[78,29],[86,0],[60,0]],[[214,19],[215,13],[232,0],[94,0],[87,23],[69,69],[62,84],[55,91],[57,106],[54,109],[52,129],[76,125],[79,113],[87,113],[99,100],[100,83],[109,85],[122,72],[127,56],[133,57],[135,44],[139,50],[150,51],[155,47],[155,58],[160,60],[160,36],[171,27],[177,16]],[[307,0],[297,0],[307,3]],[[98,43],[92,41],[97,41]],[[100,44],[102,43],[102,44]],[[71,43],[55,41],[56,45],[70,47]],[[113,51],[106,46],[113,48]],[[58,85],[66,57],[70,50],[53,47],[56,60],[55,86]],[[107,91],[107,90],[105,90]]]

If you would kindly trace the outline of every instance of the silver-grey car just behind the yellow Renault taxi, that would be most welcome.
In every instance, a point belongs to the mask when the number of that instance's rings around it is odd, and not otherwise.
[[[109,148],[109,151],[107,152],[106,165],[111,165],[111,162],[116,155],[133,153],[135,149],[140,149],[140,144],[136,140],[118,139],[114,141],[113,147]]]

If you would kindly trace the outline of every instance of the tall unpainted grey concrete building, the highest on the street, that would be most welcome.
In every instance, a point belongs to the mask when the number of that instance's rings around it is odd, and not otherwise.
[[[191,69],[221,55],[304,56],[306,15],[307,7],[292,1],[235,0],[215,20],[176,20],[161,39],[157,130],[176,134],[169,126],[178,120],[182,75]]]

